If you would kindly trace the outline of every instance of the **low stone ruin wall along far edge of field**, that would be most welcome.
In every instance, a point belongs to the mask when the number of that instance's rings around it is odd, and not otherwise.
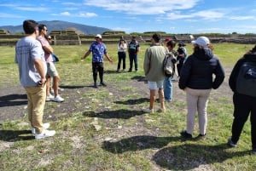
[[[14,46],[17,41],[24,37],[25,35],[1,35],[0,34],[0,46]],[[88,44],[95,41],[94,35],[51,35],[53,37],[54,45],[82,45]],[[104,43],[118,43],[121,35],[103,35],[102,39]],[[166,36],[172,37],[174,41],[190,43],[191,39],[189,35],[174,35]],[[161,41],[164,41],[166,37],[162,37]],[[249,43],[256,44],[256,36],[248,35],[224,35],[224,36],[207,36],[212,43]],[[131,35],[125,35],[125,40],[129,42],[131,40]],[[196,37],[195,37],[196,38]],[[137,41],[139,43],[150,43],[151,36],[137,36]]]

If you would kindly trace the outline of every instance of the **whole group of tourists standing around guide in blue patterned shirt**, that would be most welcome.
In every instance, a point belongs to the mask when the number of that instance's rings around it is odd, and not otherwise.
[[[20,72],[20,83],[26,89],[28,100],[28,119],[31,123],[32,134],[35,139],[42,139],[53,136],[54,130],[48,130],[49,123],[43,123],[45,99],[49,96],[49,78],[53,77],[53,88],[55,101],[63,101],[58,94],[58,81],[60,77],[52,64],[53,49],[45,39],[47,28],[44,25],[38,25],[34,20],[25,20],[23,28],[26,37],[22,37],[15,47],[15,62],[18,63]],[[40,33],[44,31],[44,34]],[[44,36],[44,37],[43,37]],[[97,88],[97,73],[99,72],[100,85],[107,86],[103,82],[103,57],[109,62],[113,60],[109,57],[106,45],[102,43],[102,35],[96,35],[96,41],[90,44],[81,60],[92,54],[92,72],[94,87]],[[224,82],[224,67],[218,57],[212,52],[212,43],[207,37],[197,37],[191,43],[194,51],[188,56],[185,44],[178,43],[179,48],[175,50],[175,41],[171,38],[166,39],[164,45],[160,43],[160,34],[154,33],[151,38],[151,46],[148,47],[144,54],[143,71],[148,81],[149,105],[143,108],[144,112],[154,113],[154,103],[158,94],[160,101],[160,112],[166,112],[165,102],[172,101],[172,89],[170,85],[172,78],[177,73],[178,87],[186,93],[187,104],[187,124],[186,128],[180,133],[185,139],[193,137],[195,126],[195,114],[198,114],[199,134],[197,138],[207,136],[207,103],[210,92],[219,88]],[[139,43],[136,37],[131,37],[131,42],[126,44],[124,38],[120,38],[118,44],[119,62],[117,71],[120,71],[121,61],[123,62],[123,71],[125,70],[125,52],[128,50],[130,68],[138,70],[137,53],[139,52]],[[169,59],[168,59],[169,58]],[[169,62],[168,62],[169,61]],[[240,71],[242,66],[246,65],[247,77],[250,80],[256,79],[256,46],[244,54],[237,61],[230,75],[230,88],[234,92],[234,122],[232,124],[231,137],[228,144],[236,147],[244,123],[251,113],[251,136],[252,136],[252,153],[256,154],[256,93],[244,93],[238,86],[237,80],[241,77]],[[177,66],[180,65],[180,66]],[[166,67],[164,67],[166,66]],[[255,68],[253,68],[255,66]],[[164,70],[165,68],[165,70]],[[177,69],[179,68],[179,69]],[[246,83],[246,81],[242,81]],[[247,90],[254,91],[253,82],[247,83]],[[172,87],[172,86],[171,86]],[[239,88],[239,89],[238,89]],[[250,89],[251,88],[251,89]],[[255,91],[254,91],[255,92]]]

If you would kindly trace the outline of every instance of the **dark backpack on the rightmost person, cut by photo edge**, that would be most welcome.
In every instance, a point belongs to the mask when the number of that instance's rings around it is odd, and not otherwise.
[[[236,79],[236,91],[256,97],[256,63],[245,62],[241,65]]]

